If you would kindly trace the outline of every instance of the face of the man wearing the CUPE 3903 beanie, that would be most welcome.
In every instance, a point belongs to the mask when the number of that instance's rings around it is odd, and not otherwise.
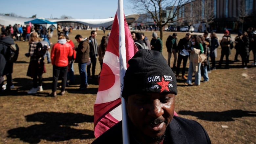
[[[128,96],[126,109],[137,138],[143,141],[163,138],[174,114],[171,93],[143,93]]]

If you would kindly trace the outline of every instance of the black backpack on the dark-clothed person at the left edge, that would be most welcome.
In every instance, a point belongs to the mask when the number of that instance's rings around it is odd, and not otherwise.
[[[1,43],[1,44],[4,44],[8,47],[6,55],[5,55],[6,61],[10,62],[10,63],[14,63],[15,61],[17,61],[18,56],[19,56],[19,47],[18,47],[18,45],[17,44],[8,45],[6,43]]]

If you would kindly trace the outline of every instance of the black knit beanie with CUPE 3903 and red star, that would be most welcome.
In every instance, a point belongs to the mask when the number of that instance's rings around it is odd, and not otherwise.
[[[161,52],[140,49],[128,64],[122,97],[147,92],[177,94],[175,73]]]

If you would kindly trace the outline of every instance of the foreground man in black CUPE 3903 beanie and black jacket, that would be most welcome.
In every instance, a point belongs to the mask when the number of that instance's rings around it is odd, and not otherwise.
[[[141,49],[128,64],[122,97],[131,144],[211,143],[198,122],[174,116],[177,82],[159,51]],[[121,121],[92,144],[100,143],[122,143]]]

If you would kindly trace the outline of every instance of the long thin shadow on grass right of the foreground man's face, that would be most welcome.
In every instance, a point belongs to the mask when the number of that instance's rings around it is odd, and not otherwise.
[[[256,116],[254,111],[229,110],[223,112],[193,112],[179,111],[178,114],[196,116],[202,120],[208,121],[234,121],[234,118],[244,116]]]

